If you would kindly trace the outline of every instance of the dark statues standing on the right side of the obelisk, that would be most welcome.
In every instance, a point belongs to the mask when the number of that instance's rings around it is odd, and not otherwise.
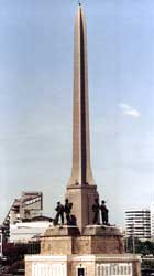
[[[109,225],[109,210],[106,206],[106,201],[102,200],[99,204],[99,200],[96,199],[92,205],[94,211],[94,224],[99,224],[99,214],[101,213],[101,223]]]

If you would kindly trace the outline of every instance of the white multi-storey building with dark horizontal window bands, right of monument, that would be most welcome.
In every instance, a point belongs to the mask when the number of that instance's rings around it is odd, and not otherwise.
[[[125,212],[127,236],[142,241],[151,238],[151,212],[147,209],[128,210]]]

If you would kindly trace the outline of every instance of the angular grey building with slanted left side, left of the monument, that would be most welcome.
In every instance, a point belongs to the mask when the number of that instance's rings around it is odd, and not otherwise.
[[[42,192],[22,192],[21,198],[14,199],[8,214],[3,221],[4,238],[10,238],[10,226],[42,214],[43,193]]]

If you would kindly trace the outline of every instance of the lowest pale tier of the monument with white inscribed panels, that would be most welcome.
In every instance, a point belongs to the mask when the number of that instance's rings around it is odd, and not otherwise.
[[[26,276],[141,276],[141,259],[132,254],[25,256]]]

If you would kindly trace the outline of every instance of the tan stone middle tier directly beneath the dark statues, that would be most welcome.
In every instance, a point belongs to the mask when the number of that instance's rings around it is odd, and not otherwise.
[[[41,254],[121,254],[124,253],[123,235],[113,226],[88,225],[80,235],[76,226],[55,226],[45,232]]]

